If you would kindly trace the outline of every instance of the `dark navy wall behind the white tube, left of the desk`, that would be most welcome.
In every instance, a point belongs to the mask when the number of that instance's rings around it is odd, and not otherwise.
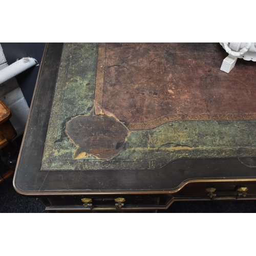
[[[17,59],[33,57],[40,64],[45,49],[44,42],[0,42],[7,63],[11,65]],[[20,89],[30,106],[39,66],[32,67],[16,76]]]

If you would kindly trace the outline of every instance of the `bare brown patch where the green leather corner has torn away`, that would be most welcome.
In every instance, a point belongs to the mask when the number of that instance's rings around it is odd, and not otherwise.
[[[78,146],[74,159],[93,155],[110,160],[124,149],[128,129],[114,117],[90,114],[68,121],[66,133]]]

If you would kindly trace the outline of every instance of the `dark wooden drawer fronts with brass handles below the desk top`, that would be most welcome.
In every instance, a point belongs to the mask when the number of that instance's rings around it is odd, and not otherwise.
[[[109,194],[41,198],[48,211],[143,211],[167,209],[174,201],[256,199],[254,181],[198,181],[162,194]]]

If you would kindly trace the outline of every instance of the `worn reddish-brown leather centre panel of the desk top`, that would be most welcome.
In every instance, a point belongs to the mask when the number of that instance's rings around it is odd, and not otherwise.
[[[239,59],[229,74],[221,71],[227,53],[219,43],[108,43],[100,49],[104,84],[102,99],[96,84],[97,102],[130,130],[170,120],[255,119],[255,63]]]

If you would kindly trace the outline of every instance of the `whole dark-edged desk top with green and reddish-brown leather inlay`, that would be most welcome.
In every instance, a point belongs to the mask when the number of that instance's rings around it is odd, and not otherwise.
[[[219,44],[48,44],[18,166],[25,195],[162,193],[256,167],[255,63]]]

